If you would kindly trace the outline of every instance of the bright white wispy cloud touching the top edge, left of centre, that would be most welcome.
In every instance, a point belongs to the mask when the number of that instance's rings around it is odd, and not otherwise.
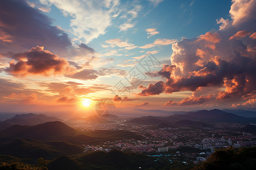
[[[44,5],[55,5],[65,16],[72,16],[71,27],[79,40],[90,42],[112,24],[118,13],[119,0],[40,0]]]

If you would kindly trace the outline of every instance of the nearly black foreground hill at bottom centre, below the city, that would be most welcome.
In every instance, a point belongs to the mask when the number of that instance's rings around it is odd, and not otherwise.
[[[162,159],[162,158],[160,158]],[[112,150],[109,152],[89,152],[74,158],[60,156],[48,164],[51,169],[171,169],[171,163],[159,160],[143,154],[133,152],[121,152]],[[141,167],[141,168],[139,168]]]

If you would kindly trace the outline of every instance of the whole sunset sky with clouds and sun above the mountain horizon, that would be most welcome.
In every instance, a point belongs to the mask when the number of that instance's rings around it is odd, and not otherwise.
[[[256,106],[256,0],[2,0],[0,112]]]

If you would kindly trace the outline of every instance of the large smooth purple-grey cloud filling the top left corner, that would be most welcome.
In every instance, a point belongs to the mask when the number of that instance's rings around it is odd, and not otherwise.
[[[0,4],[0,50],[18,52],[31,46],[56,51],[71,46],[67,33],[52,25],[52,20],[26,1],[3,0]],[[11,15],[10,15],[11,12]]]

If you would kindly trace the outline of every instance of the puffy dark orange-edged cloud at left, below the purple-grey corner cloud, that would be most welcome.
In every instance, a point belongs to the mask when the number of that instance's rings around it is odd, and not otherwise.
[[[16,53],[12,57],[14,59],[5,71],[13,75],[41,74],[49,76],[69,74],[73,71],[73,68],[69,66],[66,59],[60,58],[48,50],[44,50],[43,46],[36,46],[28,52]]]

